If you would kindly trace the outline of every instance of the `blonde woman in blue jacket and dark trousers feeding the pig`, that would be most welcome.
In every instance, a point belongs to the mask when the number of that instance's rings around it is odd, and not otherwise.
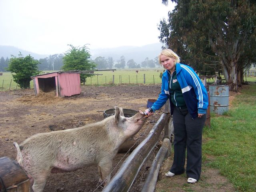
[[[160,109],[169,98],[174,126],[174,160],[165,175],[172,177],[185,172],[187,150],[187,182],[195,183],[201,174],[202,129],[206,121],[208,94],[196,72],[180,64],[179,56],[172,50],[162,50],[158,59],[166,71],[162,76],[161,93],[148,116]]]

